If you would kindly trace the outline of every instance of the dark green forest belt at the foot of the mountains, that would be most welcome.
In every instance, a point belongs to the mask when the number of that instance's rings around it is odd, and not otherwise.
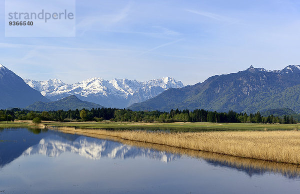
[[[255,114],[237,113],[234,111],[216,112],[207,110],[171,110],[160,111],[131,111],[117,108],[92,108],[91,110],[58,110],[58,111],[29,111],[21,109],[0,110],[0,121],[33,120],[43,121],[96,121],[109,120],[114,122],[216,122],[216,123],[297,123],[293,116],[262,116]]]

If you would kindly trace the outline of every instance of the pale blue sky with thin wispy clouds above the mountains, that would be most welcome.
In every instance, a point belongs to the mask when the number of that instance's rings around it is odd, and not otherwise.
[[[4,37],[0,63],[22,78],[91,77],[184,85],[248,68],[299,64],[297,0],[76,0],[75,37]]]

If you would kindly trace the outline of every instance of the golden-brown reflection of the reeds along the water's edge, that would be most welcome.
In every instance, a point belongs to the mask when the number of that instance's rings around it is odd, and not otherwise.
[[[78,130],[74,130],[71,128],[64,128],[61,129],[64,133],[69,134],[77,134],[77,135],[85,135],[88,137],[98,138],[98,139],[106,139],[111,141],[117,141],[122,144],[140,147],[140,148],[149,148],[158,150],[161,152],[168,152],[172,154],[177,154],[181,156],[192,157],[196,159],[203,159],[206,161],[210,161],[212,163],[219,163],[226,165],[231,168],[235,169],[251,169],[255,172],[271,172],[274,174],[281,174],[287,177],[299,177],[300,176],[300,168],[294,164],[288,163],[277,163],[277,162],[270,162],[264,160],[256,160],[250,158],[241,158],[241,157],[233,157],[229,155],[222,155],[222,154],[215,154],[210,152],[203,152],[203,151],[195,151],[190,149],[182,149],[176,148],[171,146],[165,146],[161,144],[152,144],[152,143],[145,143],[145,142],[138,142],[132,140],[125,140],[118,137],[107,136],[107,135],[99,135],[97,133],[86,133],[85,130],[82,132]]]

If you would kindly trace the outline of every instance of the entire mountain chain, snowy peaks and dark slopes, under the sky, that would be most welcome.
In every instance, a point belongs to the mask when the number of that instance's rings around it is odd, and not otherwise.
[[[169,111],[178,108],[254,113],[287,108],[300,113],[299,65],[288,65],[282,70],[250,66],[237,73],[211,76],[202,83],[185,87],[171,77],[146,82],[127,79],[107,81],[100,78],[75,84],[65,84],[58,79],[25,79],[25,82],[0,65],[0,109],[27,107],[30,110],[68,110],[129,106],[133,111]],[[73,96],[68,97],[70,95]],[[61,101],[48,103],[50,99]]]

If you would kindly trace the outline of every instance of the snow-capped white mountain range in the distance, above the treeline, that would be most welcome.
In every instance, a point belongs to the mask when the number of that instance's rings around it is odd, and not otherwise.
[[[75,95],[83,101],[117,108],[126,108],[133,103],[153,98],[168,88],[183,87],[181,81],[171,77],[145,82],[128,79],[104,80],[95,77],[75,84],[65,84],[59,79],[46,81],[24,79],[24,81],[50,100]]]

